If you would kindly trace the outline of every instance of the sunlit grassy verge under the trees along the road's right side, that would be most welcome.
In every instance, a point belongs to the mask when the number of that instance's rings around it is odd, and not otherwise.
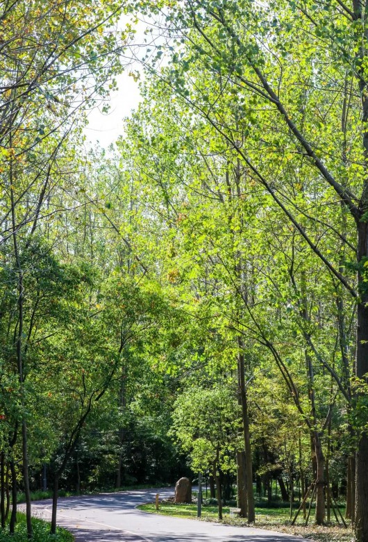
[[[164,516],[175,516],[178,518],[196,518],[196,504],[174,504],[174,502],[160,503],[160,509],[157,511],[155,504],[141,504],[140,510],[151,512],[153,514],[162,514]],[[223,509],[224,520],[222,523],[228,525],[238,525],[239,527],[249,527],[246,520],[233,518],[230,516],[228,507]],[[217,506],[203,506],[202,520],[218,521]],[[297,525],[290,525],[290,511],[287,508],[256,508],[256,527],[259,529],[269,529],[271,531],[285,532],[294,536],[302,536],[305,539],[312,539],[316,542],[351,542],[353,534],[351,528],[345,529],[340,525],[317,526],[312,524],[305,527],[303,522]]]

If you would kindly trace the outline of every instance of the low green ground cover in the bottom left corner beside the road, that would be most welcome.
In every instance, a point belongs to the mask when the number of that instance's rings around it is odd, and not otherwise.
[[[32,518],[33,539],[32,542],[73,542],[74,536],[71,532],[57,527],[56,534],[50,534],[50,524],[46,521]],[[0,529],[0,542],[28,542],[26,515],[17,514],[17,525],[15,534],[11,535],[6,529]]]

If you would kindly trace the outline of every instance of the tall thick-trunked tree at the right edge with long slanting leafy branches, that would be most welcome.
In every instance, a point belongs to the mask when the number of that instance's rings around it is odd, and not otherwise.
[[[176,36],[181,34],[177,42],[181,53],[174,53],[172,69],[162,77],[228,142],[249,177],[269,193],[298,236],[357,303],[356,377],[364,383],[368,372],[364,4],[301,6],[277,1],[256,7],[248,1],[189,0],[171,7],[167,20]],[[203,83],[196,80],[194,85],[197,67]],[[205,79],[211,81],[211,93],[205,90]],[[224,113],[229,100],[237,106],[233,117]],[[294,179],[289,187],[283,176],[291,170]],[[298,216],[298,194],[306,181],[303,204],[309,202],[318,213],[304,221]],[[351,267],[335,262],[327,249],[319,248],[315,236],[315,224],[322,223],[331,244],[344,239],[346,226],[335,229],[328,208],[319,206],[321,199],[332,202],[335,197],[347,211],[347,229],[358,238],[357,257],[354,242],[345,247],[345,262],[352,262],[356,281]],[[365,409],[364,393],[356,388],[355,397]],[[358,433],[356,537],[366,542],[368,437],[362,427]]]

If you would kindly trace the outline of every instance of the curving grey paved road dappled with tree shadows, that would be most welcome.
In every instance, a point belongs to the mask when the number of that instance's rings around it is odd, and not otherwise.
[[[58,525],[77,542],[303,542],[282,533],[171,518],[137,510],[138,504],[174,495],[174,488],[60,498]],[[51,518],[51,501],[33,503],[33,515]],[[309,541],[310,542],[310,541]]]

